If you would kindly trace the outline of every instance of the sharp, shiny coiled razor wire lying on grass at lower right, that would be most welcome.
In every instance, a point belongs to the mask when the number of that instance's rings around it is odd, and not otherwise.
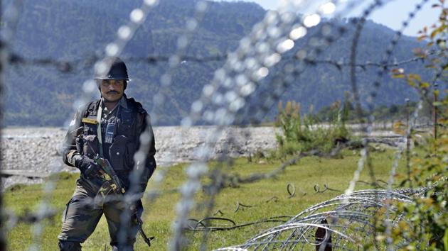
[[[371,224],[371,220],[375,217],[375,212],[388,200],[412,201],[409,196],[395,191],[353,191],[351,194],[343,194],[306,208],[286,223],[265,230],[242,245],[223,247],[218,250],[257,250],[259,248],[262,250],[303,250],[305,247],[318,245],[329,246],[336,250],[356,250],[357,247],[362,248],[361,243],[357,242],[358,235],[361,233],[364,238],[372,233],[374,225]],[[394,208],[389,210],[395,211]],[[337,218],[338,223],[331,223],[332,218]],[[349,233],[348,228],[351,229]],[[317,232],[319,229],[324,229],[320,240]],[[297,245],[302,245],[302,248]]]

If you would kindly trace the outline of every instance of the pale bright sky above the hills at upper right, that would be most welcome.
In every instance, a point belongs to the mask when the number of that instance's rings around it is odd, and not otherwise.
[[[279,8],[282,1],[286,0],[215,0],[215,1],[252,1],[257,4],[260,4],[264,9],[272,9],[275,10]],[[315,0],[309,0],[315,1]],[[348,16],[361,16],[360,14],[363,12],[366,6],[373,2],[373,0],[361,1],[364,2],[361,8],[358,8],[351,12]],[[321,1],[322,2],[322,1]],[[402,22],[405,21],[410,11],[415,9],[415,5],[422,2],[422,0],[389,0],[383,1],[385,2],[384,6],[382,6],[377,11],[373,12],[372,16],[368,19],[372,19],[375,23],[381,23],[393,30],[398,30]],[[432,4],[439,3],[438,0],[430,0],[423,6],[422,10],[417,13],[414,19],[410,22],[410,26],[404,31],[405,35],[417,36],[418,30],[420,30],[423,26],[431,26],[433,23],[437,21],[437,17],[439,16],[438,10],[432,8]],[[300,11],[300,10],[299,10]]]

